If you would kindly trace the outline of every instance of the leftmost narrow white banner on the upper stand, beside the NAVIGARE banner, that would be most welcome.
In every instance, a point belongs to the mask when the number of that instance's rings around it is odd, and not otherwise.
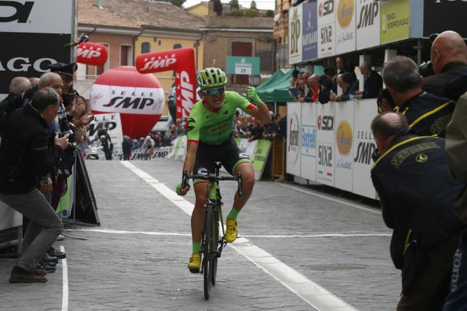
[[[289,9],[289,63],[302,61],[303,3]]]

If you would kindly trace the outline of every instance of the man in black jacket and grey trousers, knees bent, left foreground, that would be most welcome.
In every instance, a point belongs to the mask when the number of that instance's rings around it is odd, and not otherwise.
[[[56,166],[68,146],[68,135],[54,137],[49,146],[46,128],[59,110],[59,94],[53,89],[37,91],[31,105],[8,116],[0,144],[0,200],[31,220],[22,243],[22,255],[10,282],[46,282],[45,271],[36,264],[59,236],[63,225],[44,193],[52,191],[47,173]],[[36,179],[40,177],[40,190]]]

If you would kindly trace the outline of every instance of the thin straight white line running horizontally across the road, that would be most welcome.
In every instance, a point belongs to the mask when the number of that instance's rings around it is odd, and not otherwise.
[[[67,232],[99,232],[105,234],[147,234],[149,236],[192,236],[192,234],[183,234],[178,232],[153,232],[153,231],[132,231],[115,229],[66,229]],[[239,236],[241,238],[358,238],[365,236],[392,236],[390,233],[369,232],[369,233],[326,233],[326,234],[261,234]]]

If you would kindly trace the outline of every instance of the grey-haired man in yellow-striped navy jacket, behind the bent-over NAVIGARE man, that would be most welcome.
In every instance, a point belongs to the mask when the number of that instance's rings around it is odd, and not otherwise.
[[[455,102],[424,92],[417,64],[406,56],[388,61],[383,79],[398,111],[404,114],[411,132],[419,136],[445,137]]]

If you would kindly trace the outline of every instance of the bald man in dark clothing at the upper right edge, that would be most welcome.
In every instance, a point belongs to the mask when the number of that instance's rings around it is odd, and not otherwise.
[[[424,90],[436,96],[447,96],[445,86],[467,71],[467,47],[455,31],[443,31],[431,45],[434,75],[424,79]]]

